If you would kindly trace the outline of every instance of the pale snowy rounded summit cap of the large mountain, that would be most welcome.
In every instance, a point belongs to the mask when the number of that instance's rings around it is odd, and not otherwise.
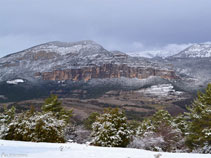
[[[40,45],[36,45],[34,47],[25,49],[23,51],[13,53],[5,56],[8,57],[26,57],[26,56],[34,56],[36,54],[54,54],[54,56],[64,56],[68,54],[75,55],[93,55],[93,54],[106,54],[108,55],[108,51],[105,50],[101,45],[97,44],[91,40],[84,40],[78,42],[61,42],[61,41],[52,41],[43,43]]]

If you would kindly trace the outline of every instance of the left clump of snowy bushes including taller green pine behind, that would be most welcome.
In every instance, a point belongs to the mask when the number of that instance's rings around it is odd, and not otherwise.
[[[6,122],[0,122],[5,131],[0,130],[0,137],[7,140],[65,142],[65,127],[72,110],[65,110],[55,95],[45,100],[42,110],[43,112],[36,112],[34,106],[31,106],[29,111],[16,115],[14,107],[5,110],[2,120]]]

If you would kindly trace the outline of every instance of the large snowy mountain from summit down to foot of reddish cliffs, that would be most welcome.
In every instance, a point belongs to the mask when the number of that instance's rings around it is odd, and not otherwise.
[[[175,78],[157,63],[107,51],[93,41],[50,42],[0,59],[0,81],[88,81],[92,78]]]

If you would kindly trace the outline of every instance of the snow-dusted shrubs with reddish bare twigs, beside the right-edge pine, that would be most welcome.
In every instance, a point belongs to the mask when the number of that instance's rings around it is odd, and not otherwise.
[[[184,139],[171,115],[160,110],[151,119],[142,122],[129,147],[172,152],[184,147]]]

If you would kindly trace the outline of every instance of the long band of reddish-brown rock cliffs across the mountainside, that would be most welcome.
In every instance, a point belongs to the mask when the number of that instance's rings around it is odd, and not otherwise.
[[[94,78],[138,78],[144,79],[150,76],[159,76],[164,79],[177,79],[178,77],[171,70],[161,70],[150,67],[129,67],[126,64],[104,64],[102,66],[83,67],[78,69],[54,70],[52,72],[37,73],[36,77],[43,80],[72,80],[89,81]]]

